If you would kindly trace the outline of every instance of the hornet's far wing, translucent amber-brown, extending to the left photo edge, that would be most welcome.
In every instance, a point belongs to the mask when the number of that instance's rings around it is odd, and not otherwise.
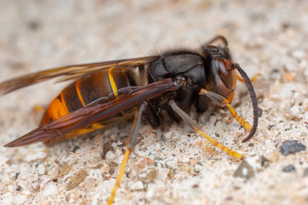
[[[54,68],[51,70],[44,70],[41,72],[35,72],[32,74],[27,74],[21,77],[17,77],[15,79],[11,79],[9,81],[5,81],[0,84],[0,96],[3,94],[7,94],[14,90],[18,90],[22,87],[27,87],[29,85],[34,85],[36,83],[40,83],[42,81],[47,81],[49,79],[53,79],[55,77],[66,76],[64,79],[60,81],[67,81],[69,79],[75,79],[86,72],[91,72],[94,70],[108,69],[115,66],[142,66],[152,59],[155,56],[151,57],[139,57],[135,59],[123,59],[117,61],[107,61],[96,64],[83,64],[77,66],[66,66],[62,68]]]

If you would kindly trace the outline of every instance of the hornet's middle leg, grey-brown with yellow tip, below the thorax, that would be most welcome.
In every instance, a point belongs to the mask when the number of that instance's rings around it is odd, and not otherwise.
[[[175,101],[171,100],[169,102],[169,105],[172,107],[172,109],[177,112],[181,118],[188,124],[188,126],[190,126],[190,128],[192,128],[193,131],[201,134],[203,137],[205,137],[207,140],[211,141],[211,143],[214,144],[214,146],[217,146],[218,148],[220,148],[220,150],[226,152],[227,154],[229,154],[230,156],[234,156],[239,160],[244,159],[244,156],[242,156],[242,154],[238,154],[238,152],[234,152],[232,150],[230,150],[229,148],[227,148],[226,146],[223,146],[222,144],[218,143],[218,141],[216,141],[215,139],[212,139],[211,137],[209,137],[208,135],[206,135],[205,133],[203,133],[198,126],[194,123],[194,121],[192,121],[192,118],[190,118],[190,116],[188,116],[188,114],[186,114],[183,110],[181,110],[177,104],[175,104]]]

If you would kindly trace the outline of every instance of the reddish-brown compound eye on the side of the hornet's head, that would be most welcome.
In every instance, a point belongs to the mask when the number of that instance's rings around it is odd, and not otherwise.
[[[219,70],[220,78],[229,89],[233,86],[233,72],[231,70],[231,65],[226,59],[220,57],[215,59],[216,68]]]

